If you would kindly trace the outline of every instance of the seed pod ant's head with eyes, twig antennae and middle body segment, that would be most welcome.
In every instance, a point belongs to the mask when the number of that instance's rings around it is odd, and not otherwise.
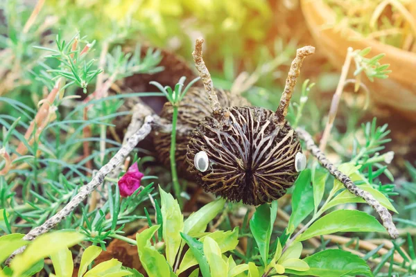
[[[204,87],[190,89],[178,107],[177,129],[182,126],[185,131],[177,132],[177,168],[182,174],[190,172],[206,191],[231,201],[272,202],[286,193],[299,174],[295,164],[302,149],[285,116],[302,61],[314,48],[297,51],[280,105],[270,111],[250,107],[240,95],[214,89],[202,60],[202,42],[197,39],[193,60]],[[161,117],[170,122],[172,114],[171,104],[166,103]],[[170,135],[155,133],[155,147],[165,164],[169,163]]]

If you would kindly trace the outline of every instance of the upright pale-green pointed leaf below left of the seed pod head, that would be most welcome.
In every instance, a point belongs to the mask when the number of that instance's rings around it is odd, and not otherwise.
[[[163,240],[166,244],[166,260],[171,267],[174,266],[177,251],[180,248],[180,232],[184,230],[184,216],[180,211],[177,200],[170,193],[165,193],[159,186],[162,199]]]

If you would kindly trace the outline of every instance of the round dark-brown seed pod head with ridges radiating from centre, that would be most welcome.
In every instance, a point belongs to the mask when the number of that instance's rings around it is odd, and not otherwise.
[[[193,159],[205,151],[209,168],[196,170]],[[189,170],[205,190],[232,201],[259,205],[278,199],[299,172],[299,139],[274,111],[261,107],[227,107],[207,116],[191,134]]]

